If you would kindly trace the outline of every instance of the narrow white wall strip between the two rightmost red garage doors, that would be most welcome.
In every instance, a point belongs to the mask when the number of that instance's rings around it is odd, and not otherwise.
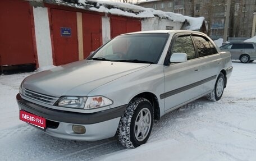
[[[110,19],[105,15],[102,17],[102,43],[106,44],[110,39]]]

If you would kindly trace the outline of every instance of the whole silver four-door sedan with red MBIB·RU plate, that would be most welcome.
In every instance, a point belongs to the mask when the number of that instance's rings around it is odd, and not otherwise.
[[[26,77],[17,94],[20,119],[70,140],[118,135],[126,148],[147,142],[154,119],[198,99],[221,99],[232,72],[196,31],[117,36],[83,61]]]

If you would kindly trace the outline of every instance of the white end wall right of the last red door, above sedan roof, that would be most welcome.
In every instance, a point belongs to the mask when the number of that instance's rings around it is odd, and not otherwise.
[[[173,22],[168,19],[160,19],[159,17],[141,20],[141,31],[166,30],[166,26],[172,26],[173,30],[180,30],[182,22]]]

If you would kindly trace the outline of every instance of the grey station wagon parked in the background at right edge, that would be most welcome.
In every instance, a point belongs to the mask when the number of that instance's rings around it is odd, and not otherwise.
[[[249,42],[234,42],[222,45],[223,51],[229,51],[232,59],[240,60],[242,63],[253,62],[256,59],[256,44]]]

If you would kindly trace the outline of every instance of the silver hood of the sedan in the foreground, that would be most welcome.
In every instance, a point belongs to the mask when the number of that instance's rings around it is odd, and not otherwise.
[[[45,95],[88,95],[112,80],[149,66],[145,63],[83,60],[35,73],[23,88]]]

